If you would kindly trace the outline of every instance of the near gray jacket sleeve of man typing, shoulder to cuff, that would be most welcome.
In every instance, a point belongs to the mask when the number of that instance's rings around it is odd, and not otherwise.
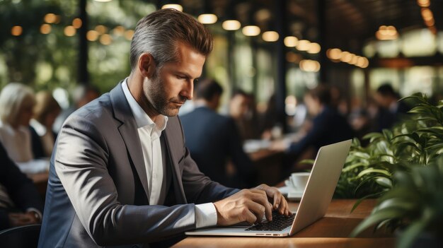
[[[194,229],[192,203],[166,207],[122,205],[118,201],[107,168],[113,154],[100,131],[87,115],[71,115],[59,134],[54,155],[55,171],[94,242],[99,245],[153,242]]]

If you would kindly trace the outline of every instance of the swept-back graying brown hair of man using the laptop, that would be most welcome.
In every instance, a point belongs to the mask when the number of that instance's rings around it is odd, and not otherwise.
[[[207,56],[213,47],[212,35],[192,16],[165,8],[150,13],[137,23],[131,42],[131,70],[137,66],[141,54],[147,52],[161,68],[177,58],[177,42],[190,45]]]

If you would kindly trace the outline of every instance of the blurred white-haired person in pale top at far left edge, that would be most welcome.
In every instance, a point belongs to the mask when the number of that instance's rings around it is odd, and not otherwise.
[[[35,105],[31,88],[21,83],[8,83],[0,93],[0,141],[16,163],[33,160],[30,119]]]

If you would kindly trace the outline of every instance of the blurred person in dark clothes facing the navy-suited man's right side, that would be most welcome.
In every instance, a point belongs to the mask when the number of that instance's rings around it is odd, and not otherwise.
[[[242,142],[247,139],[260,138],[253,95],[243,90],[235,90],[229,102],[229,115],[236,122]]]

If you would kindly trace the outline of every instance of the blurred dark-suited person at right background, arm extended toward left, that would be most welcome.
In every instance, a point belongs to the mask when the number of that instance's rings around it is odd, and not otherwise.
[[[318,85],[304,97],[309,114],[313,117],[311,128],[306,136],[297,143],[276,142],[272,148],[285,150],[292,164],[309,148],[313,148],[313,155],[321,146],[353,138],[350,124],[334,107],[330,107],[330,88],[327,85]]]

